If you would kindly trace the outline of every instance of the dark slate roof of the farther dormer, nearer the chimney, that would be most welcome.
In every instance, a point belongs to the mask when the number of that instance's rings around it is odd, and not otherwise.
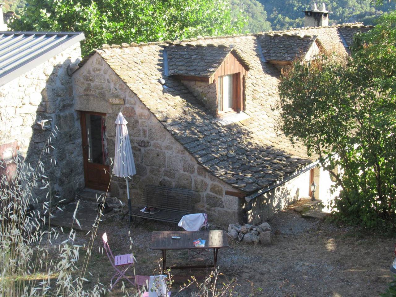
[[[259,36],[261,49],[267,61],[291,62],[305,55],[315,42],[317,35],[263,34]]]

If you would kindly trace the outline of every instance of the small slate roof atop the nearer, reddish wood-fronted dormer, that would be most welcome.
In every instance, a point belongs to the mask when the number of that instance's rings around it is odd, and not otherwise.
[[[230,52],[249,69],[249,63],[233,47],[219,44],[173,44],[166,48],[169,75],[210,77]]]

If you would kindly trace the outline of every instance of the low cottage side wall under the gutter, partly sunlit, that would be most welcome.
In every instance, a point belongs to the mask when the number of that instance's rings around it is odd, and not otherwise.
[[[247,212],[248,223],[255,225],[267,221],[277,211],[296,200],[308,197],[308,194],[309,171],[252,200],[252,208]],[[247,207],[247,203],[244,207]]]

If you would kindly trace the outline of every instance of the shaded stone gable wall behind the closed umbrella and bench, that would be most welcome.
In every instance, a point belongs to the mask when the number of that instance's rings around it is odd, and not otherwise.
[[[208,213],[209,222],[225,227],[241,221],[243,198],[225,194],[227,190],[237,190],[198,165],[98,54],[73,74],[73,82],[76,110],[107,114],[110,157],[114,156],[114,122],[118,112],[122,112],[128,121],[137,171],[129,183],[133,205],[143,206],[141,198],[145,185],[187,188],[194,190],[194,211]],[[110,98],[123,99],[124,104],[110,104]],[[111,194],[126,201],[124,179],[112,177]]]

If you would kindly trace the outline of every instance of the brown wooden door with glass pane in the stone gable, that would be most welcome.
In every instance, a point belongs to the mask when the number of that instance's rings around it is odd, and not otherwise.
[[[110,166],[106,142],[106,114],[81,112],[82,152],[85,186],[107,191]]]

